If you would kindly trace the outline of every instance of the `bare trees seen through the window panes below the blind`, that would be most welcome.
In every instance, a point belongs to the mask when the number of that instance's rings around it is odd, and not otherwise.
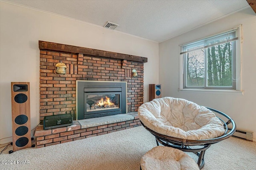
[[[185,87],[233,88],[233,44],[235,41],[184,54],[186,56]]]

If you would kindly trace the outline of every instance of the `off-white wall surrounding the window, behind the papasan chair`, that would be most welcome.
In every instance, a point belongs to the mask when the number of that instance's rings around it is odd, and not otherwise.
[[[242,93],[188,92],[179,88],[179,45],[219,33],[239,24],[243,26]],[[184,98],[228,114],[238,129],[254,132],[256,141],[256,14],[251,8],[204,25],[159,44],[159,83],[162,95]]]

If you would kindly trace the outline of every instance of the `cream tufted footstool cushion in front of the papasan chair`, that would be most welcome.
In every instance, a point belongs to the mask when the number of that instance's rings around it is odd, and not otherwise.
[[[196,162],[181,150],[154,147],[140,160],[142,170],[199,170]]]

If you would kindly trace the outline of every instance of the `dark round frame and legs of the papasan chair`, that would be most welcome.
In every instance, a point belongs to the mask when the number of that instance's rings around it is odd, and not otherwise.
[[[166,147],[172,147],[175,149],[182,150],[184,152],[193,152],[198,156],[198,167],[202,169],[204,167],[204,154],[208,148],[214,143],[218,143],[220,141],[223,141],[224,139],[227,139],[231,137],[235,131],[236,131],[236,123],[231,119],[228,115],[225,113],[218,111],[216,109],[212,109],[209,107],[206,107],[210,109],[211,111],[214,111],[216,113],[219,113],[220,115],[226,117],[228,119],[227,122],[220,119],[220,121],[223,122],[224,129],[226,129],[225,133],[221,135],[220,137],[214,138],[214,139],[204,139],[204,140],[186,140],[186,139],[179,139],[174,137],[169,137],[166,135],[162,135],[159,133],[156,133],[155,131],[152,131],[148,127],[146,127],[142,122],[141,124],[156,137],[156,144],[159,146],[159,143],[161,145],[164,145]],[[232,124],[232,128],[228,128],[228,124]],[[228,130],[230,130],[228,132]]]

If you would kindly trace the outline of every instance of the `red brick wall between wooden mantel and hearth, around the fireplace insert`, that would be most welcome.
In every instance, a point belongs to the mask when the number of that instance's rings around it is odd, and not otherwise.
[[[66,75],[55,74],[65,63]],[[127,111],[143,104],[143,63],[52,51],[40,51],[40,120],[44,116],[71,113],[76,117],[76,80],[126,81]],[[132,77],[132,69],[138,72]]]

